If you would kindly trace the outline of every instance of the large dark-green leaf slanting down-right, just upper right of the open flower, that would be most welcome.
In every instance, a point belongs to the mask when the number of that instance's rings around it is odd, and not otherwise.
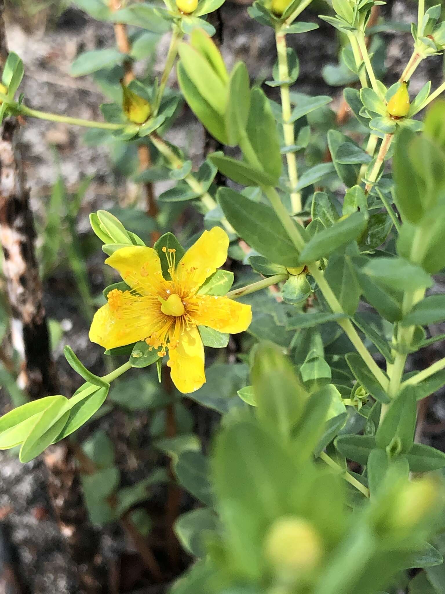
[[[298,265],[298,252],[271,207],[229,188],[220,188],[217,198],[228,222],[250,247],[278,264]]]

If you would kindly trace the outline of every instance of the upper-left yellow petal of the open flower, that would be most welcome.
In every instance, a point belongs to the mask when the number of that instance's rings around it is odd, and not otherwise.
[[[116,268],[120,276],[141,295],[157,292],[163,283],[158,252],[142,245],[116,249],[105,263]]]

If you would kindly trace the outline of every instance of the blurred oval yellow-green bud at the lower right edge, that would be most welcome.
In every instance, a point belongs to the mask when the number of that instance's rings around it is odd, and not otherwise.
[[[431,514],[438,503],[440,485],[431,478],[411,481],[397,498],[390,519],[394,528],[410,528]]]

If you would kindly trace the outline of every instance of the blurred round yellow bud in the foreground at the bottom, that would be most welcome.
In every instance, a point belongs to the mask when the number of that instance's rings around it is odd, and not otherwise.
[[[320,563],[323,544],[319,533],[301,517],[276,520],[266,536],[266,558],[275,570],[287,574],[309,573]]]

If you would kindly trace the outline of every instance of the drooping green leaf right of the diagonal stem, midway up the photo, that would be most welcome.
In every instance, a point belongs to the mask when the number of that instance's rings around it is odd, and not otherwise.
[[[348,315],[354,315],[360,301],[360,286],[351,258],[346,254],[332,254],[325,277],[343,311]]]

